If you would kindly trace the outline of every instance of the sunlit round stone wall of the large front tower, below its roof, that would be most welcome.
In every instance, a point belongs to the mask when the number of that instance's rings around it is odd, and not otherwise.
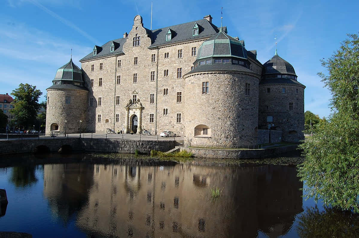
[[[242,148],[257,144],[258,81],[256,74],[205,72],[186,75],[186,135],[192,146]],[[209,93],[202,94],[202,82]],[[245,85],[250,83],[250,96]],[[199,125],[208,135],[195,135]]]

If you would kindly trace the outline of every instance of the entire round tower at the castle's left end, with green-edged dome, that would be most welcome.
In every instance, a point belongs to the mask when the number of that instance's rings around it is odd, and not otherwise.
[[[46,89],[46,133],[79,133],[80,127],[85,132],[88,90],[81,69],[70,59],[57,70],[52,83]]]

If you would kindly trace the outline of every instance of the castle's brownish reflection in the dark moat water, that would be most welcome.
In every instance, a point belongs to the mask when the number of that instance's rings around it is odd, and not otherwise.
[[[295,166],[127,159],[47,164],[43,192],[55,217],[95,237],[278,237],[303,211],[300,188]]]

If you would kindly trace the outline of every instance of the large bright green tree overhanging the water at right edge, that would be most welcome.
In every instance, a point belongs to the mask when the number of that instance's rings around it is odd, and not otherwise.
[[[348,35],[319,73],[332,92],[330,120],[320,123],[301,148],[306,160],[298,175],[307,198],[359,213],[359,38]]]

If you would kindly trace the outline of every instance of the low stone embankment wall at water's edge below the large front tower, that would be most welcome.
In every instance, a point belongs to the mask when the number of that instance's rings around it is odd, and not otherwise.
[[[201,148],[181,148],[192,152],[195,157],[211,158],[211,159],[259,159],[275,157],[290,151],[295,151],[297,145],[288,145],[283,147],[276,147],[270,149],[257,149],[257,150],[240,150],[240,149],[201,149]]]

